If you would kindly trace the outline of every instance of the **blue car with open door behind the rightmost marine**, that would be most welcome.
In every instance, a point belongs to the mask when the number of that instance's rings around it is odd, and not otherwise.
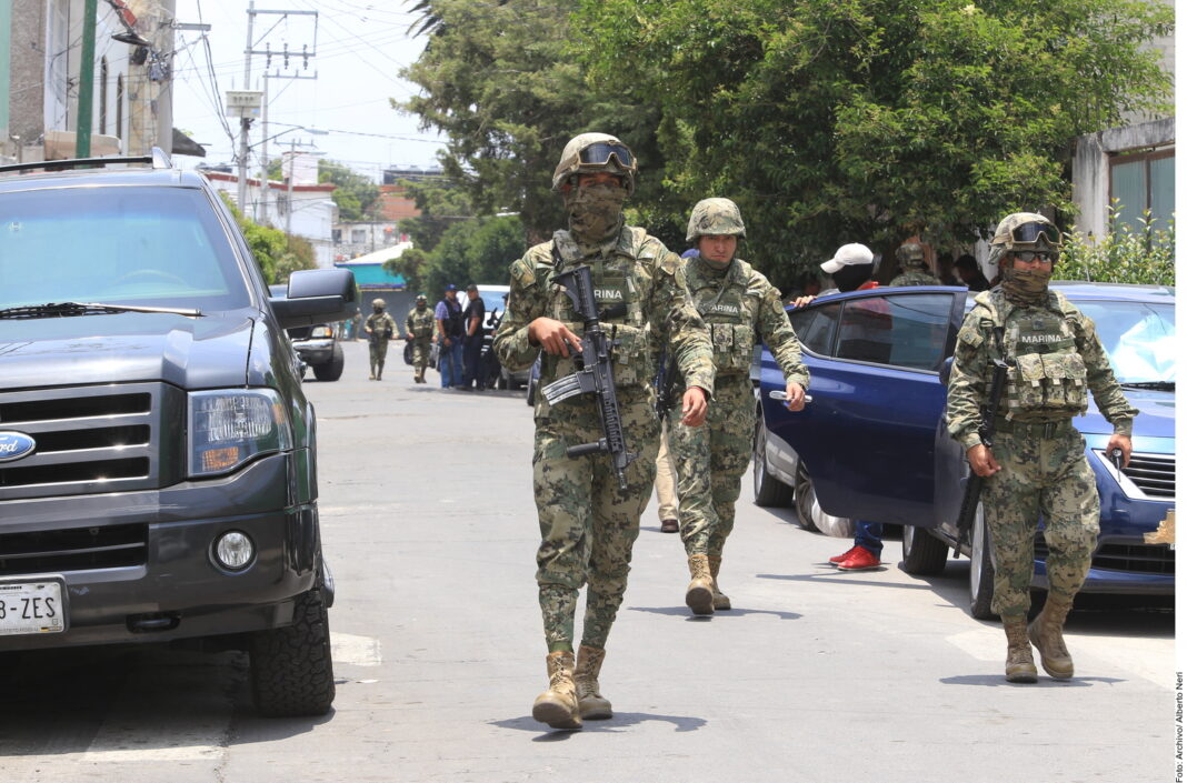
[[[1096,324],[1117,380],[1142,413],[1134,456],[1118,471],[1103,450],[1112,427],[1096,407],[1077,419],[1102,498],[1100,537],[1084,590],[1170,594],[1174,553],[1147,543],[1174,509],[1174,289],[1056,284]],[[756,368],[760,419],[755,497],[786,503],[810,527],[813,509],[902,524],[903,568],[938,573],[957,548],[956,517],[967,463],[944,421],[941,370],[972,295],[964,288],[876,288],[825,297],[789,312],[812,373],[813,402],[792,413],[769,397],[782,388],[764,348]],[[805,505],[807,509],[805,510]],[[971,541],[970,609],[989,616],[992,564],[978,513]],[[1042,536],[1035,587],[1046,587]]]

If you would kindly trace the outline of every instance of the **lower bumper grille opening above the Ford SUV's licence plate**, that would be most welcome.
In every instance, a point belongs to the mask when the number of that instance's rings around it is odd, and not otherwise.
[[[0,575],[141,566],[147,553],[147,524],[4,533]]]

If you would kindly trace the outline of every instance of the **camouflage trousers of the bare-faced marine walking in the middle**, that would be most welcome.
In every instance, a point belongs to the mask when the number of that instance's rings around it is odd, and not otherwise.
[[[734,530],[734,505],[754,446],[754,388],[744,375],[718,376],[700,427],[668,413],[668,437],[680,499],[680,539],[690,555],[722,556]]]

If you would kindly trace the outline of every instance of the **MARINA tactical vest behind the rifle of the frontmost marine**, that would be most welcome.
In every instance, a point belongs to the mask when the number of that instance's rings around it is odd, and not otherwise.
[[[564,287],[552,282],[552,275],[570,266],[590,265],[594,278],[594,298],[597,300],[598,320],[607,335],[614,335],[614,380],[616,386],[645,384],[654,369],[648,348],[647,320],[643,318],[643,300],[652,289],[658,243],[646,249],[647,233],[639,228],[624,228],[629,237],[620,235],[617,247],[609,257],[584,260],[569,231],[553,235],[553,266],[537,265],[537,274],[548,280],[551,304],[548,317],[563,322],[575,335],[584,335],[584,325],[573,312],[573,303]],[[629,238],[629,250],[624,248]],[[559,263],[558,263],[559,262]],[[560,266],[557,269],[557,266]],[[550,383],[577,370],[572,355],[569,357],[544,354],[540,382]]]

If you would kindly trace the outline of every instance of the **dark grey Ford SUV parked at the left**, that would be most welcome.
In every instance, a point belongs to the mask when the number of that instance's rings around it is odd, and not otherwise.
[[[354,278],[269,300],[201,174],[53,166],[0,167],[0,651],[241,648],[259,712],[325,713],[334,579],[284,329],[350,317]]]

